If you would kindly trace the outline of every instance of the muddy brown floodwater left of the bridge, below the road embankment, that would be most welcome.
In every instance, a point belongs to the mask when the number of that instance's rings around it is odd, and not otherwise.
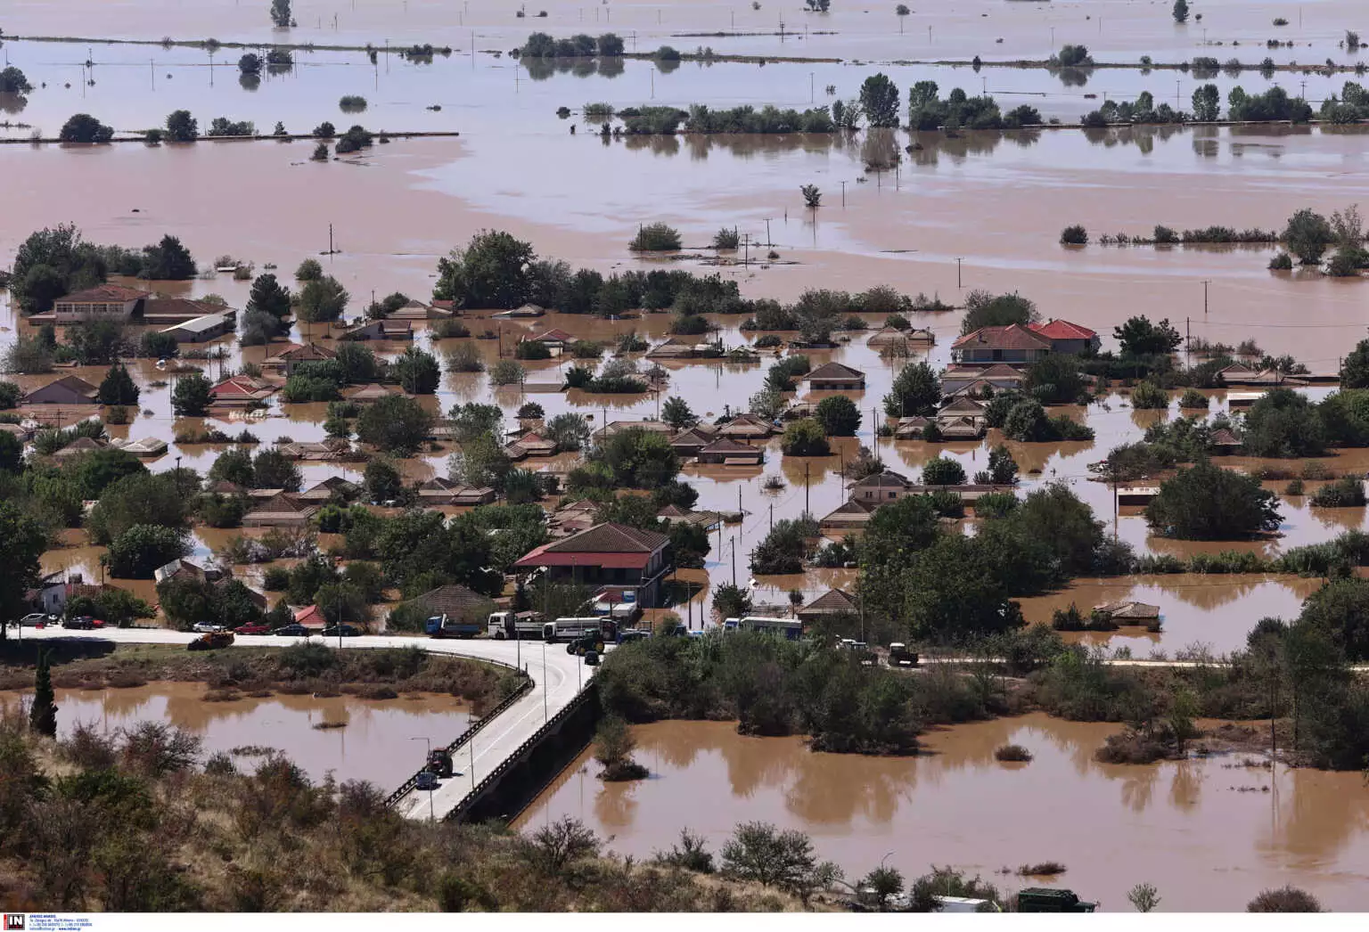
[[[205,702],[203,683],[149,683],[131,688],[57,690],[57,738],[78,723],[112,732],[140,721],[183,728],[204,740],[203,757],[237,747],[274,747],[314,780],[331,771],[338,781],[370,780],[389,792],[413,776],[428,738],[446,745],[465,731],[470,706],[450,695],[408,694],[398,699],[349,695],[274,695]],[[0,692],[0,708],[29,702],[31,692]],[[316,728],[344,723],[342,728]],[[234,755],[251,771],[260,755]]]

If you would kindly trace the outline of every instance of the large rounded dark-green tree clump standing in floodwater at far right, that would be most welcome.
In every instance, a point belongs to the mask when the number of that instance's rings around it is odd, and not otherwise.
[[[1279,504],[1259,479],[1202,461],[1160,486],[1146,506],[1158,534],[1184,541],[1231,541],[1279,527]]]

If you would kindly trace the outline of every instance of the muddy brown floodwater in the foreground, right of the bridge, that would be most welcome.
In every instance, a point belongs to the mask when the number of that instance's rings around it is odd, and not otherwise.
[[[717,851],[732,825],[763,820],[809,833],[849,880],[887,851],[905,877],[953,865],[1016,890],[1043,881],[997,872],[1051,859],[1068,868],[1054,883],[1108,911],[1131,911],[1125,894],[1139,883],[1158,887],[1161,910],[1240,911],[1284,884],[1332,910],[1369,909],[1358,773],[1275,773],[1243,766],[1251,755],[1095,762],[1116,729],[1031,714],[935,731],[916,758],[871,758],[742,738],[730,723],[657,723],[634,729],[650,779],[605,784],[583,755],[519,825],[572,816],[613,836],[613,850],[646,857],[682,828]],[[1035,760],[997,762],[1009,742]]]

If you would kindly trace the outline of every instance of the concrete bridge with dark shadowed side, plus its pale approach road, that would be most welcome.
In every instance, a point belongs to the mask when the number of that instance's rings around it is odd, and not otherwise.
[[[11,639],[16,630],[10,628]],[[67,631],[64,628],[25,628],[23,640],[99,640],[126,645],[188,645],[199,635],[164,628],[111,628],[108,631]],[[522,666],[531,686],[472,723],[464,735],[452,735],[453,775],[431,792],[413,788],[409,777],[397,790],[390,805],[409,818],[491,818],[512,817],[526,801],[512,802],[501,792],[501,783],[516,784],[519,791],[535,792],[541,783],[559,772],[557,761],[574,745],[578,753],[583,736],[593,731],[594,697],[587,687],[594,666],[565,653],[564,645],[541,640],[445,640],[431,638],[363,635],[359,638],[323,639],[240,636],[233,647],[286,647],[293,643],[326,643],[344,650],[375,647],[419,647],[433,654],[468,657],[505,666]],[[586,731],[586,725],[589,731]],[[554,751],[554,753],[552,753]],[[548,773],[546,769],[557,766]],[[416,776],[416,775],[415,775]],[[519,795],[519,794],[515,794]]]

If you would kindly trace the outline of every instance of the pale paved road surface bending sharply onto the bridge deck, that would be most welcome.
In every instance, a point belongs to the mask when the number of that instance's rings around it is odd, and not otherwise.
[[[10,630],[10,636],[15,636],[15,630]],[[115,628],[110,631],[67,631],[64,628],[25,628],[23,639],[51,639],[66,638],[74,640],[104,640],[126,645],[186,645],[197,635],[167,631],[163,628]],[[315,638],[277,638],[241,636],[233,643],[234,647],[285,647],[303,640],[322,642]],[[580,687],[589,682],[594,673],[593,666],[585,666],[579,657],[565,653],[564,645],[546,645],[541,640],[434,640],[430,638],[404,638],[385,635],[366,635],[360,638],[335,638],[327,640],[329,646],[344,649],[367,647],[408,647],[418,645],[423,650],[435,654],[452,654],[457,657],[474,657],[476,660],[493,660],[509,666],[522,661],[533,679],[533,688],[500,713],[500,717],[478,731],[475,738],[463,745],[455,755],[456,773],[442,780],[434,792],[411,792],[396,803],[396,810],[411,818],[428,818],[435,816],[442,818],[452,812],[479,783],[486,773],[493,771],[509,754],[517,750],[528,738],[537,732],[542,724],[564,709],[579,692]],[[455,740],[450,735],[448,740]],[[418,760],[415,760],[415,769]],[[474,764],[474,771],[472,771]]]

